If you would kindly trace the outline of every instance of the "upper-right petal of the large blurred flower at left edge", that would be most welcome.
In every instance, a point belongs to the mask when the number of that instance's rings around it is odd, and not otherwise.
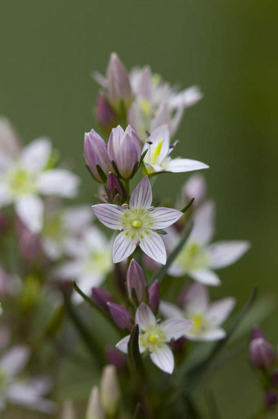
[[[20,157],[22,166],[33,172],[43,170],[49,160],[51,148],[47,138],[32,141],[22,151]]]

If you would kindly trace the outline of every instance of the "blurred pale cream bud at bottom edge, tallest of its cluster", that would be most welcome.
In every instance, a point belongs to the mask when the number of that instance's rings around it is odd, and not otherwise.
[[[120,399],[120,389],[114,365],[106,365],[100,379],[100,400],[108,417],[115,417]]]

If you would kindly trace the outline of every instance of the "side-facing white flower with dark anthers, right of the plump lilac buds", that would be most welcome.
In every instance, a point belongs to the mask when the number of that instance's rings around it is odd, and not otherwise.
[[[170,130],[167,125],[157,127],[148,138],[143,152],[148,150],[144,157],[144,164],[148,174],[161,171],[189,172],[192,170],[207,169],[205,163],[191,159],[169,157],[175,146],[170,145]]]

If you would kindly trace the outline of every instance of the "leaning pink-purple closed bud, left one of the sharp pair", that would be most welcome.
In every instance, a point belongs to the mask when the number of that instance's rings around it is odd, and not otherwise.
[[[112,166],[108,157],[106,144],[94,129],[85,133],[84,156],[86,166],[92,173],[94,179],[100,183],[106,183],[106,179]]]

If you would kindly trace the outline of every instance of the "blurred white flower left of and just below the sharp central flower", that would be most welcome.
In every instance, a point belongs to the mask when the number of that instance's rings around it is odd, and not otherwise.
[[[71,260],[62,263],[53,274],[57,279],[76,280],[87,295],[112,270],[112,243],[96,227],[89,228],[79,238],[68,240],[67,255]],[[73,300],[81,302],[82,298],[74,293]]]

